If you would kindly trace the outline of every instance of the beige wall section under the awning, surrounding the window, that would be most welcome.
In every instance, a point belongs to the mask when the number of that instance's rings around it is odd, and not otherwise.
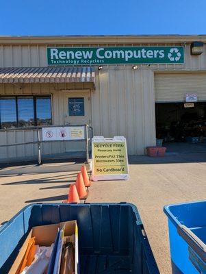
[[[21,87],[21,88],[20,88]],[[62,112],[63,92],[65,89],[88,88],[87,85],[78,84],[0,84],[0,95],[51,95],[51,111],[53,125],[64,125],[64,113]],[[37,131],[34,129],[14,129],[0,131],[0,145],[15,144],[21,142],[36,142]],[[81,142],[78,143],[79,145]],[[82,147],[82,145],[80,145]],[[67,145],[68,147],[68,145]],[[71,144],[73,147],[73,144]],[[64,142],[46,142],[42,144],[42,155],[64,153]],[[0,162],[15,160],[15,158],[37,158],[38,147],[36,144],[19,145],[15,147],[0,147]]]

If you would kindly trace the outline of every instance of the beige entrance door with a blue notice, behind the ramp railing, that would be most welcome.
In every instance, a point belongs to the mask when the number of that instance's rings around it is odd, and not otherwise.
[[[65,92],[64,93],[64,125],[91,125],[91,100],[90,92]],[[66,152],[75,152],[77,156],[85,155],[86,142],[65,142]],[[81,153],[78,154],[78,151]],[[75,155],[73,153],[73,155]]]

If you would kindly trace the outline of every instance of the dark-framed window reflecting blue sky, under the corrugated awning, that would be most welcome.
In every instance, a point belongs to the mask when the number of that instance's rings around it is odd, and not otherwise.
[[[51,125],[51,97],[0,97],[0,128]]]

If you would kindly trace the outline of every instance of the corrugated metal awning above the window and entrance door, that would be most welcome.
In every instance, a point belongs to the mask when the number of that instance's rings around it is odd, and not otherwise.
[[[92,67],[0,68],[0,83],[93,82]]]

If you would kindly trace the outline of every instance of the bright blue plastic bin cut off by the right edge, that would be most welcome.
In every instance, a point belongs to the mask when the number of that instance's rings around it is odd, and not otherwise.
[[[206,273],[206,201],[164,207],[173,274]]]

